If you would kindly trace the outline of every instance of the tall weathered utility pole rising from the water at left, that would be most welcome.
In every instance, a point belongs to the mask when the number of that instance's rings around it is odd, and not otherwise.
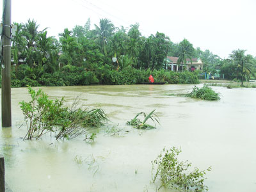
[[[12,0],[3,0],[3,31],[1,44],[2,67],[2,127],[12,126],[11,109],[11,4]]]

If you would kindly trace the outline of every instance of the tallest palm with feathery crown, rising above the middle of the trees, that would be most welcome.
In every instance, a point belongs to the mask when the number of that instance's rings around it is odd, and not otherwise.
[[[112,35],[114,31],[114,25],[111,23],[110,20],[108,19],[100,19],[100,25],[95,26],[95,35],[97,38],[95,38],[96,42],[99,42],[100,47],[102,49],[102,53],[107,56],[107,50],[106,50],[106,45],[108,42],[108,38]]]

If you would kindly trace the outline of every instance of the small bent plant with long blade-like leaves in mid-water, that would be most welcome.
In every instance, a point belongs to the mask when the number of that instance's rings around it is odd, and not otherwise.
[[[136,116],[134,116],[134,118],[132,118],[131,121],[127,121],[126,124],[132,125],[136,129],[155,129],[156,128],[155,121],[159,124],[159,118],[156,115],[156,113],[154,113],[154,111],[156,111],[156,109],[151,111],[148,115],[144,112],[140,112]],[[144,116],[143,122],[141,122],[140,118],[138,118],[138,116],[140,116],[140,115]],[[146,124],[147,120],[149,120],[149,119],[151,119],[155,123],[155,126]]]

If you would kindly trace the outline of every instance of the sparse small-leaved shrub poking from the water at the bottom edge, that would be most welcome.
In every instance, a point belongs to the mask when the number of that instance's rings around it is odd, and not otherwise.
[[[189,172],[191,163],[188,161],[179,161],[177,156],[181,150],[175,147],[170,150],[163,149],[164,154],[159,154],[156,160],[152,161],[152,182],[155,183],[156,179],[161,181],[161,186],[158,188],[177,189],[181,192],[207,191],[207,186],[204,186],[206,171],[211,171],[211,167],[207,170],[200,171],[194,168]]]

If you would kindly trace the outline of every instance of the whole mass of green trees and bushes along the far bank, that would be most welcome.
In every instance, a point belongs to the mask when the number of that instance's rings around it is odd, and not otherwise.
[[[148,37],[140,33],[140,25],[129,29],[116,28],[111,20],[100,19],[90,29],[90,19],[84,26],[65,28],[59,39],[47,36],[47,28],[29,19],[17,25],[12,37],[12,86],[70,86],[88,84],[136,84],[147,81],[152,74],[156,81],[167,83],[199,83],[198,73],[168,72],[167,56],[186,59],[201,58],[201,72],[220,74],[226,79],[248,81],[255,78],[256,60],[244,50],[235,50],[230,58],[221,60],[209,50],[202,51],[186,39],[173,43],[164,33]],[[116,61],[112,61],[115,57]]]

